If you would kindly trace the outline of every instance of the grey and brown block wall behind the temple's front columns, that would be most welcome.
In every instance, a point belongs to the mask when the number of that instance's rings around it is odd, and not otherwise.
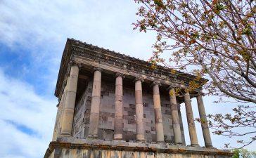
[[[84,87],[82,97],[77,98],[75,106],[75,117],[72,129],[72,136],[76,138],[87,138],[89,130],[89,114],[91,107],[92,83],[90,79]],[[123,84],[123,139],[126,141],[136,140],[135,126],[135,96],[134,86]],[[165,142],[174,143],[172,129],[172,116],[170,112],[169,96],[167,91],[160,91],[162,121],[165,134]],[[153,91],[152,87],[143,85],[143,112],[145,138],[147,142],[155,142],[155,117],[153,110]],[[179,111],[180,114],[180,111]],[[181,116],[180,116],[181,118]],[[106,81],[104,78],[101,83],[101,105],[98,137],[101,140],[112,140],[115,119],[115,82]],[[181,123],[182,139],[184,131]]]

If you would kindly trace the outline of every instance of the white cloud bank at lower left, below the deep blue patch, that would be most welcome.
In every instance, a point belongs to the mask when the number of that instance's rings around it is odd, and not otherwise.
[[[56,100],[38,96],[30,84],[1,69],[0,100],[0,157],[43,157],[53,133]]]

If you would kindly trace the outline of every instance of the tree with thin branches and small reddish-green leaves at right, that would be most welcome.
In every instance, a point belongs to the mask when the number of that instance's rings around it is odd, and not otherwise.
[[[238,140],[243,145],[256,140],[256,1],[134,1],[140,6],[134,29],[157,34],[150,59],[153,65],[210,79],[204,88],[207,94],[220,97],[217,102],[225,101],[224,96],[251,103],[234,108],[234,114],[210,115],[210,126],[219,135],[252,135],[249,142]],[[162,58],[165,52],[170,52],[169,60]],[[252,131],[233,131],[239,127]]]

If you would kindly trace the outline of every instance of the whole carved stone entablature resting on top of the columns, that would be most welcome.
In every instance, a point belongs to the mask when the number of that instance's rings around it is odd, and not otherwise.
[[[56,85],[55,95],[62,93],[69,72],[70,61],[82,64],[84,68],[99,67],[103,70],[122,73],[128,77],[143,77],[146,81],[160,81],[166,86],[186,88],[189,81],[196,77],[184,72],[172,72],[167,67],[157,65],[152,67],[151,62],[132,58],[129,55],[109,51],[91,44],[86,44],[75,39],[68,39],[60,64],[60,72]],[[202,79],[206,81],[206,79]]]

